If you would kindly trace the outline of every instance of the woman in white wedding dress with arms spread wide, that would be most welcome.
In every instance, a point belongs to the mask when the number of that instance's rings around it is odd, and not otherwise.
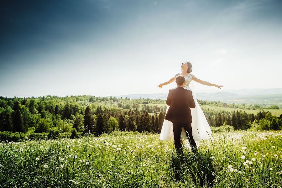
[[[184,63],[181,64],[181,69],[182,69],[182,72],[177,73],[169,81],[161,83],[158,87],[162,88],[163,86],[174,82],[176,76],[178,76],[178,75],[184,76],[184,78],[185,78],[184,88],[188,89],[188,90],[191,90],[189,85],[190,85],[190,82],[192,80],[196,81],[200,84],[206,85],[206,86],[215,86],[215,87],[218,87],[219,89],[221,89],[221,87],[222,87],[222,86],[218,86],[216,84],[212,84],[212,83],[207,82],[207,81],[202,81],[202,80],[196,78],[196,76],[192,75],[191,74],[192,64],[188,61],[185,61]],[[199,145],[200,141],[208,140],[208,139],[211,138],[212,131],[211,131],[211,128],[210,128],[208,122],[206,121],[206,117],[205,117],[199,103],[197,102],[196,95],[194,94],[193,91],[192,91],[192,95],[193,95],[193,98],[194,98],[194,101],[195,101],[195,104],[196,104],[195,108],[190,108],[191,109],[191,115],[192,115],[192,121],[193,121],[191,123],[192,135],[193,135],[193,138],[194,138],[196,144]],[[168,109],[169,109],[169,106],[167,106],[166,112],[168,111]],[[185,130],[184,130],[183,127],[182,127],[182,132],[181,132],[181,138],[187,139],[186,133],[185,133]],[[170,122],[168,120],[164,120],[159,139],[160,140],[174,140],[172,122]],[[188,142],[186,142],[186,143],[188,143]],[[189,147],[189,144],[186,144],[186,143],[185,143],[185,147]]]

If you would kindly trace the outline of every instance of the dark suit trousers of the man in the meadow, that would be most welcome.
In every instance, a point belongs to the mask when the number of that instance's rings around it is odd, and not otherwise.
[[[197,152],[197,145],[192,135],[191,123],[172,122],[172,127],[173,127],[174,145],[176,151],[179,153],[180,149],[182,149],[182,144],[180,143],[180,135],[181,135],[181,129],[183,127],[185,129],[186,136],[188,137],[192,151]]]

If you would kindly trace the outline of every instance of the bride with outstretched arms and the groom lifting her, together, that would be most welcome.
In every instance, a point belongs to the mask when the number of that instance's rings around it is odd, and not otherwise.
[[[191,147],[193,152],[197,152],[199,142],[210,139],[212,131],[195,94],[189,87],[190,82],[193,80],[220,89],[222,86],[196,78],[191,74],[192,65],[190,62],[182,63],[181,69],[182,72],[158,86],[162,88],[162,86],[174,81],[177,84],[177,88],[169,91],[166,100],[166,115],[159,139],[174,140],[178,153],[182,153],[181,138],[188,139],[188,142],[185,142],[185,147]]]

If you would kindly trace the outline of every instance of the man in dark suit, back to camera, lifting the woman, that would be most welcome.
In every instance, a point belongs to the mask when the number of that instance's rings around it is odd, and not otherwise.
[[[190,108],[195,108],[192,92],[183,88],[185,79],[182,75],[177,76],[175,82],[177,88],[170,89],[166,99],[166,104],[170,107],[165,115],[165,119],[172,122],[174,145],[177,153],[182,153],[182,144],[180,143],[182,127],[185,129],[192,151],[197,152],[197,146],[192,136],[191,127],[192,116]]]

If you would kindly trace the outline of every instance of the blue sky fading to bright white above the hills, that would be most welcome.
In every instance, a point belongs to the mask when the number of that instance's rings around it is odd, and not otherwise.
[[[280,0],[3,0],[0,96],[120,96],[192,64],[196,92],[282,87]]]

